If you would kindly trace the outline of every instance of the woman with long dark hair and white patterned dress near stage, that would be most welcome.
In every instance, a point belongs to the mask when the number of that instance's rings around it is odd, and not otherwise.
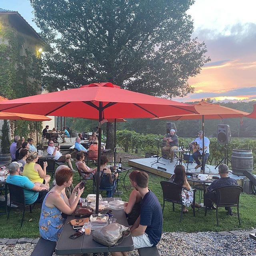
[[[174,169],[174,174],[172,174],[170,178],[170,182],[174,182],[187,190],[191,190],[190,184],[188,184],[188,181],[186,179],[186,172],[183,165],[178,164],[176,165]],[[193,203],[194,199],[194,192],[193,191],[187,191],[185,189],[182,189],[182,209],[184,213],[188,212],[188,209],[186,209],[186,206],[190,206]],[[201,205],[195,203],[196,208],[200,208]]]

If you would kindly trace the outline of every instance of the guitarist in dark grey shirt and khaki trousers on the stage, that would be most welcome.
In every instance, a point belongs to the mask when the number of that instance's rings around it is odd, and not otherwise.
[[[165,154],[167,159],[170,158],[170,162],[173,162],[174,151],[172,149],[177,149],[179,146],[179,139],[175,134],[175,130],[171,129],[170,135],[166,135],[163,140],[166,141],[166,146],[162,147],[162,156]]]

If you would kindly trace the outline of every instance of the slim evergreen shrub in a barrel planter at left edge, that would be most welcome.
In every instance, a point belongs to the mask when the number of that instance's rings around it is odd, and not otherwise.
[[[9,138],[9,124],[7,120],[4,120],[4,124],[2,126],[2,140],[1,140],[1,151],[0,154],[0,164],[9,164],[12,162],[11,154],[10,154],[10,138]]]

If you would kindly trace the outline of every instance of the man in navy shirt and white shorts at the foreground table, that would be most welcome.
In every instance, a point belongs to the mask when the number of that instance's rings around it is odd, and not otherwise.
[[[140,216],[130,228],[134,249],[156,246],[162,236],[163,214],[156,195],[148,189],[148,174],[136,172],[132,186],[142,196]],[[126,256],[127,252],[112,252],[113,256]]]

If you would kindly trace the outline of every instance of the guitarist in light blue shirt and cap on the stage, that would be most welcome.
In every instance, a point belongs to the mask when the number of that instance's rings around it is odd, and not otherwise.
[[[202,166],[200,160],[198,159],[201,155],[202,155],[202,147],[203,147],[203,132],[199,131],[198,133],[198,138],[196,138],[194,140],[194,142],[192,143],[192,148],[193,148],[193,154],[192,157],[194,158],[194,160],[196,161],[196,167],[195,169],[199,168]],[[193,145],[194,144],[194,145]],[[210,145],[210,140],[204,136],[204,160],[206,161],[207,158],[209,157],[209,145]],[[204,161],[204,163],[205,163]]]

